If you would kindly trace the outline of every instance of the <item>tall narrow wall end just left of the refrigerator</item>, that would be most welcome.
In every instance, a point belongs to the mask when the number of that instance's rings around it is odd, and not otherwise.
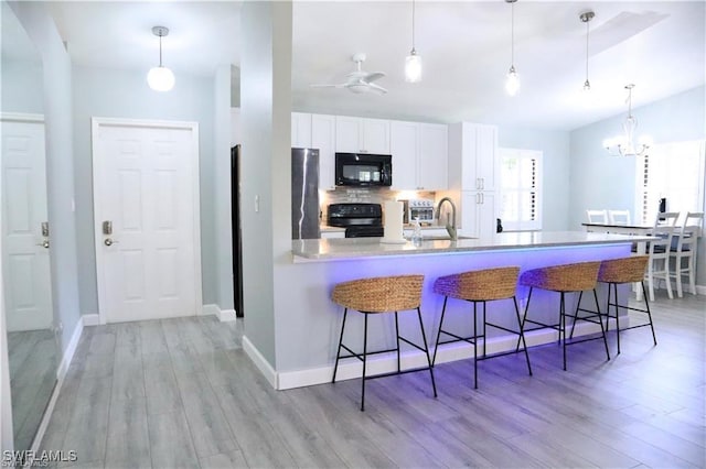
[[[289,287],[277,271],[291,262],[291,3],[245,2],[240,21],[245,337],[276,368]]]

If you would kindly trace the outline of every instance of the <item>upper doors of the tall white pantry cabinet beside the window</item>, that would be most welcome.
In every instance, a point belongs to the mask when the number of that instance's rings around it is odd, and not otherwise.
[[[449,185],[461,190],[495,190],[499,178],[498,128],[449,126]]]

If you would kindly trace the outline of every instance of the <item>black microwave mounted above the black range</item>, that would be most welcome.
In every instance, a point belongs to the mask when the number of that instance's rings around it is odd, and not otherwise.
[[[377,155],[370,153],[336,153],[335,185],[392,186],[392,155]]]

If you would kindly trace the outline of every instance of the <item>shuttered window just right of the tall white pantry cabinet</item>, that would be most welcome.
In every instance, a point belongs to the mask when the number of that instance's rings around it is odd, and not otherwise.
[[[500,150],[500,218],[506,231],[542,229],[542,156],[536,150]]]

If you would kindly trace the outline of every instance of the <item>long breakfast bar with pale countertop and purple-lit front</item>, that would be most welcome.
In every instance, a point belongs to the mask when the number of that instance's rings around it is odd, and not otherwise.
[[[331,291],[340,282],[387,275],[422,274],[424,288],[421,314],[427,328],[427,337],[436,337],[443,298],[432,291],[437,277],[471,270],[516,265],[521,271],[547,265],[568,264],[586,261],[602,261],[630,255],[631,246],[644,241],[643,236],[608,234],[584,231],[552,232],[503,232],[488,238],[426,239],[415,246],[411,241],[387,244],[379,238],[307,239],[292,241],[292,260],[281,271],[284,280],[291,287],[287,292],[287,314],[277,318],[278,367],[276,386],[289,389],[330,382],[333,372],[338,334],[341,329],[342,310],[331,301]],[[628,295],[629,288],[622,291]],[[599,284],[601,310],[606,307],[607,288]],[[527,291],[517,288],[521,309],[524,308]],[[567,307],[575,307],[576,298],[570,298]],[[558,295],[550,292],[533,294],[531,312],[533,317],[546,315],[554,320],[557,315]],[[468,304],[449,302],[446,320],[456,321],[459,329],[472,330],[469,321]],[[595,308],[592,295],[585,295],[581,307]],[[489,305],[489,316],[493,320],[513,324],[512,301],[494,302]],[[349,318],[353,343],[362,343],[362,315]],[[356,321],[360,319],[360,324]],[[386,317],[373,318],[368,349],[389,348],[394,341],[394,323]],[[379,321],[377,321],[377,319]],[[418,327],[415,314],[400,314],[400,331]],[[374,323],[374,324],[373,324]],[[445,323],[446,324],[446,323]],[[576,334],[592,334],[592,325],[579,328]],[[598,330],[598,326],[596,326]],[[360,331],[360,334],[359,334]],[[414,332],[410,332],[414,334]],[[357,335],[357,337],[356,337]],[[281,338],[281,340],[279,340]],[[556,332],[536,331],[527,335],[530,347],[556,340]],[[488,353],[511,350],[516,336],[500,335],[488,339]],[[247,351],[248,343],[244,345]],[[248,351],[249,355],[250,351]],[[448,345],[437,353],[437,363],[471,357],[471,347]],[[517,357],[517,359],[523,359]],[[417,350],[403,352],[403,368],[420,364],[425,360]],[[559,366],[557,363],[557,366]],[[396,367],[394,357],[379,356],[368,363],[371,373],[391,371]],[[362,367],[351,363],[339,367],[338,379],[360,377]]]

